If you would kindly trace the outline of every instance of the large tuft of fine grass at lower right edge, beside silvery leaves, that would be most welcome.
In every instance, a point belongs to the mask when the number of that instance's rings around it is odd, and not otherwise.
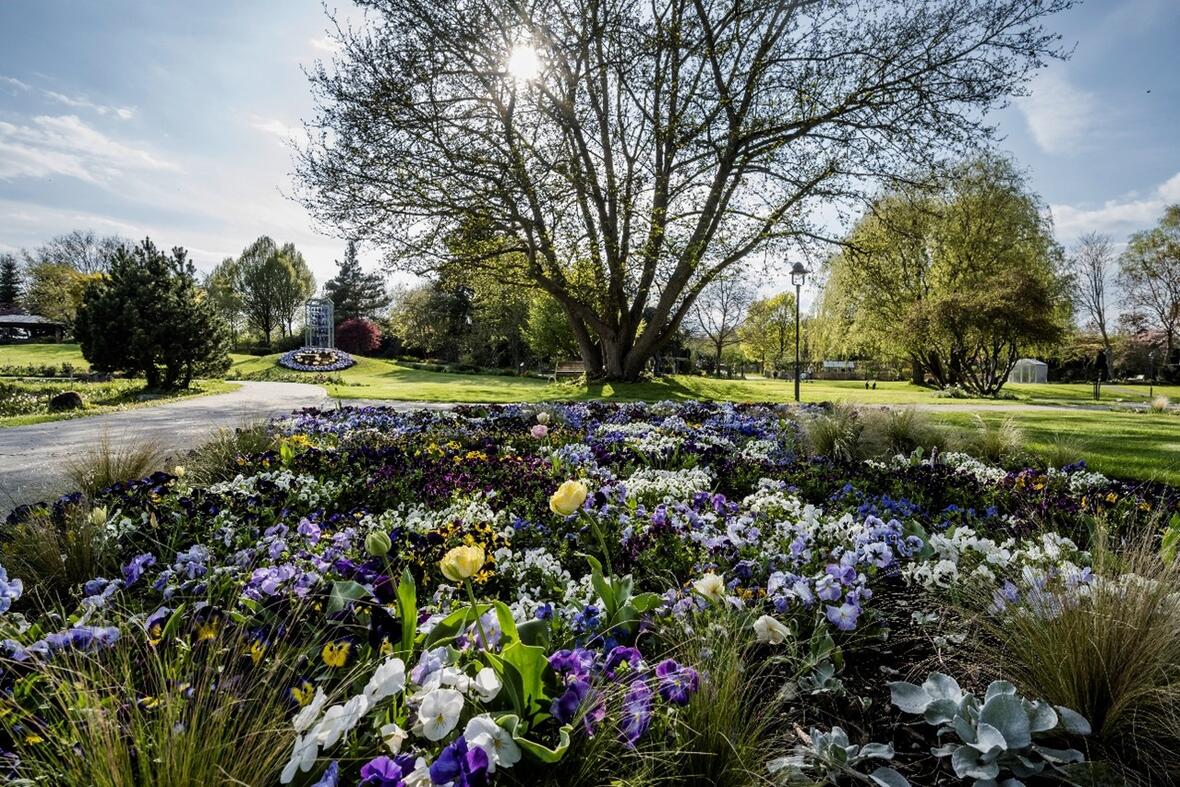
[[[1097,582],[1063,598],[1054,615],[1020,609],[984,617],[981,654],[997,676],[1073,708],[1094,727],[1101,759],[1129,783],[1180,776],[1180,563],[1165,563],[1150,536],[1094,545]],[[1057,606],[1056,604],[1054,606]],[[986,656],[986,660],[983,660]]]

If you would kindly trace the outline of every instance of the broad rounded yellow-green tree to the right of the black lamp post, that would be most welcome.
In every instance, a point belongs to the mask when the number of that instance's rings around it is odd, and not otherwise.
[[[1069,324],[1062,251],[1005,158],[883,196],[848,244],[830,261],[826,320],[848,349],[910,359],[942,386],[995,395],[1022,354],[1055,346]]]

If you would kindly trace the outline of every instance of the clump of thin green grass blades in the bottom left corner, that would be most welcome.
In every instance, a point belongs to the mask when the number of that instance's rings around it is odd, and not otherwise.
[[[211,658],[211,647],[240,657]],[[20,742],[25,773],[38,783],[94,787],[277,783],[296,654],[280,642],[255,665],[241,656],[250,647],[244,634],[192,647],[175,634],[152,645],[131,632],[112,651],[46,668],[34,689],[38,724],[54,732]],[[127,694],[132,686],[138,694]],[[7,723],[15,721],[25,720]]]

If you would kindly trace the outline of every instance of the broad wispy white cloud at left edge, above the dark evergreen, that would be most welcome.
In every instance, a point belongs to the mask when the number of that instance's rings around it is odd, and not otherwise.
[[[0,181],[67,176],[98,184],[129,170],[179,168],[106,136],[76,114],[41,114],[28,125],[0,123]]]

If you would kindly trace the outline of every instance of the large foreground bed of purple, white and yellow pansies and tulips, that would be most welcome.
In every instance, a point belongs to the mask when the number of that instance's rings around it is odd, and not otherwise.
[[[805,458],[811,415],[306,411],[232,480],[158,473],[22,507],[0,577],[9,775],[86,774],[111,746],[296,785],[896,787],[1076,767],[1069,708],[989,688],[986,669],[963,689],[914,670],[956,665],[948,609],[1079,603],[1094,523],[1166,517],[1171,490],[964,454]],[[46,526],[91,539],[97,576],[18,573]],[[210,710],[228,707],[250,710]],[[912,713],[965,714],[963,752],[931,754],[946,733],[923,737]]]

